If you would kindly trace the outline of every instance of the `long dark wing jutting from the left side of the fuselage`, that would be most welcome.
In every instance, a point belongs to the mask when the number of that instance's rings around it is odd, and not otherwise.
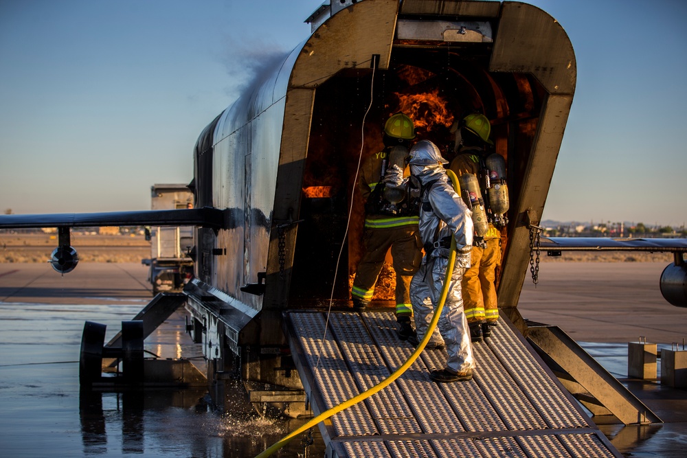
[[[98,226],[201,226],[221,229],[225,227],[224,220],[224,211],[211,207],[108,213],[0,215],[0,229]]]

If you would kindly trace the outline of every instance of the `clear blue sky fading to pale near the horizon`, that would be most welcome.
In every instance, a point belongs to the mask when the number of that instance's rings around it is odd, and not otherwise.
[[[320,0],[0,0],[0,211],[142,210]],[[687,2],[536,0],[578,80],[543,218],[684,225]]]

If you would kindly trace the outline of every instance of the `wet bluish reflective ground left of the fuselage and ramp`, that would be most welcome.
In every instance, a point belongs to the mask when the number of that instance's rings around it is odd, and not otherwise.
[[[218,415],[205,389],[80,393],[85,321],[108,325],[109,340],[144,305],[0,303],[0,457],[254,457],[306,422],[245,406]],[[150,336],[146,349],[151,340],[159,351],[164,339]],[[273,456],[322,457],[317,431],[313,439],[306,448],[295,438]]]

